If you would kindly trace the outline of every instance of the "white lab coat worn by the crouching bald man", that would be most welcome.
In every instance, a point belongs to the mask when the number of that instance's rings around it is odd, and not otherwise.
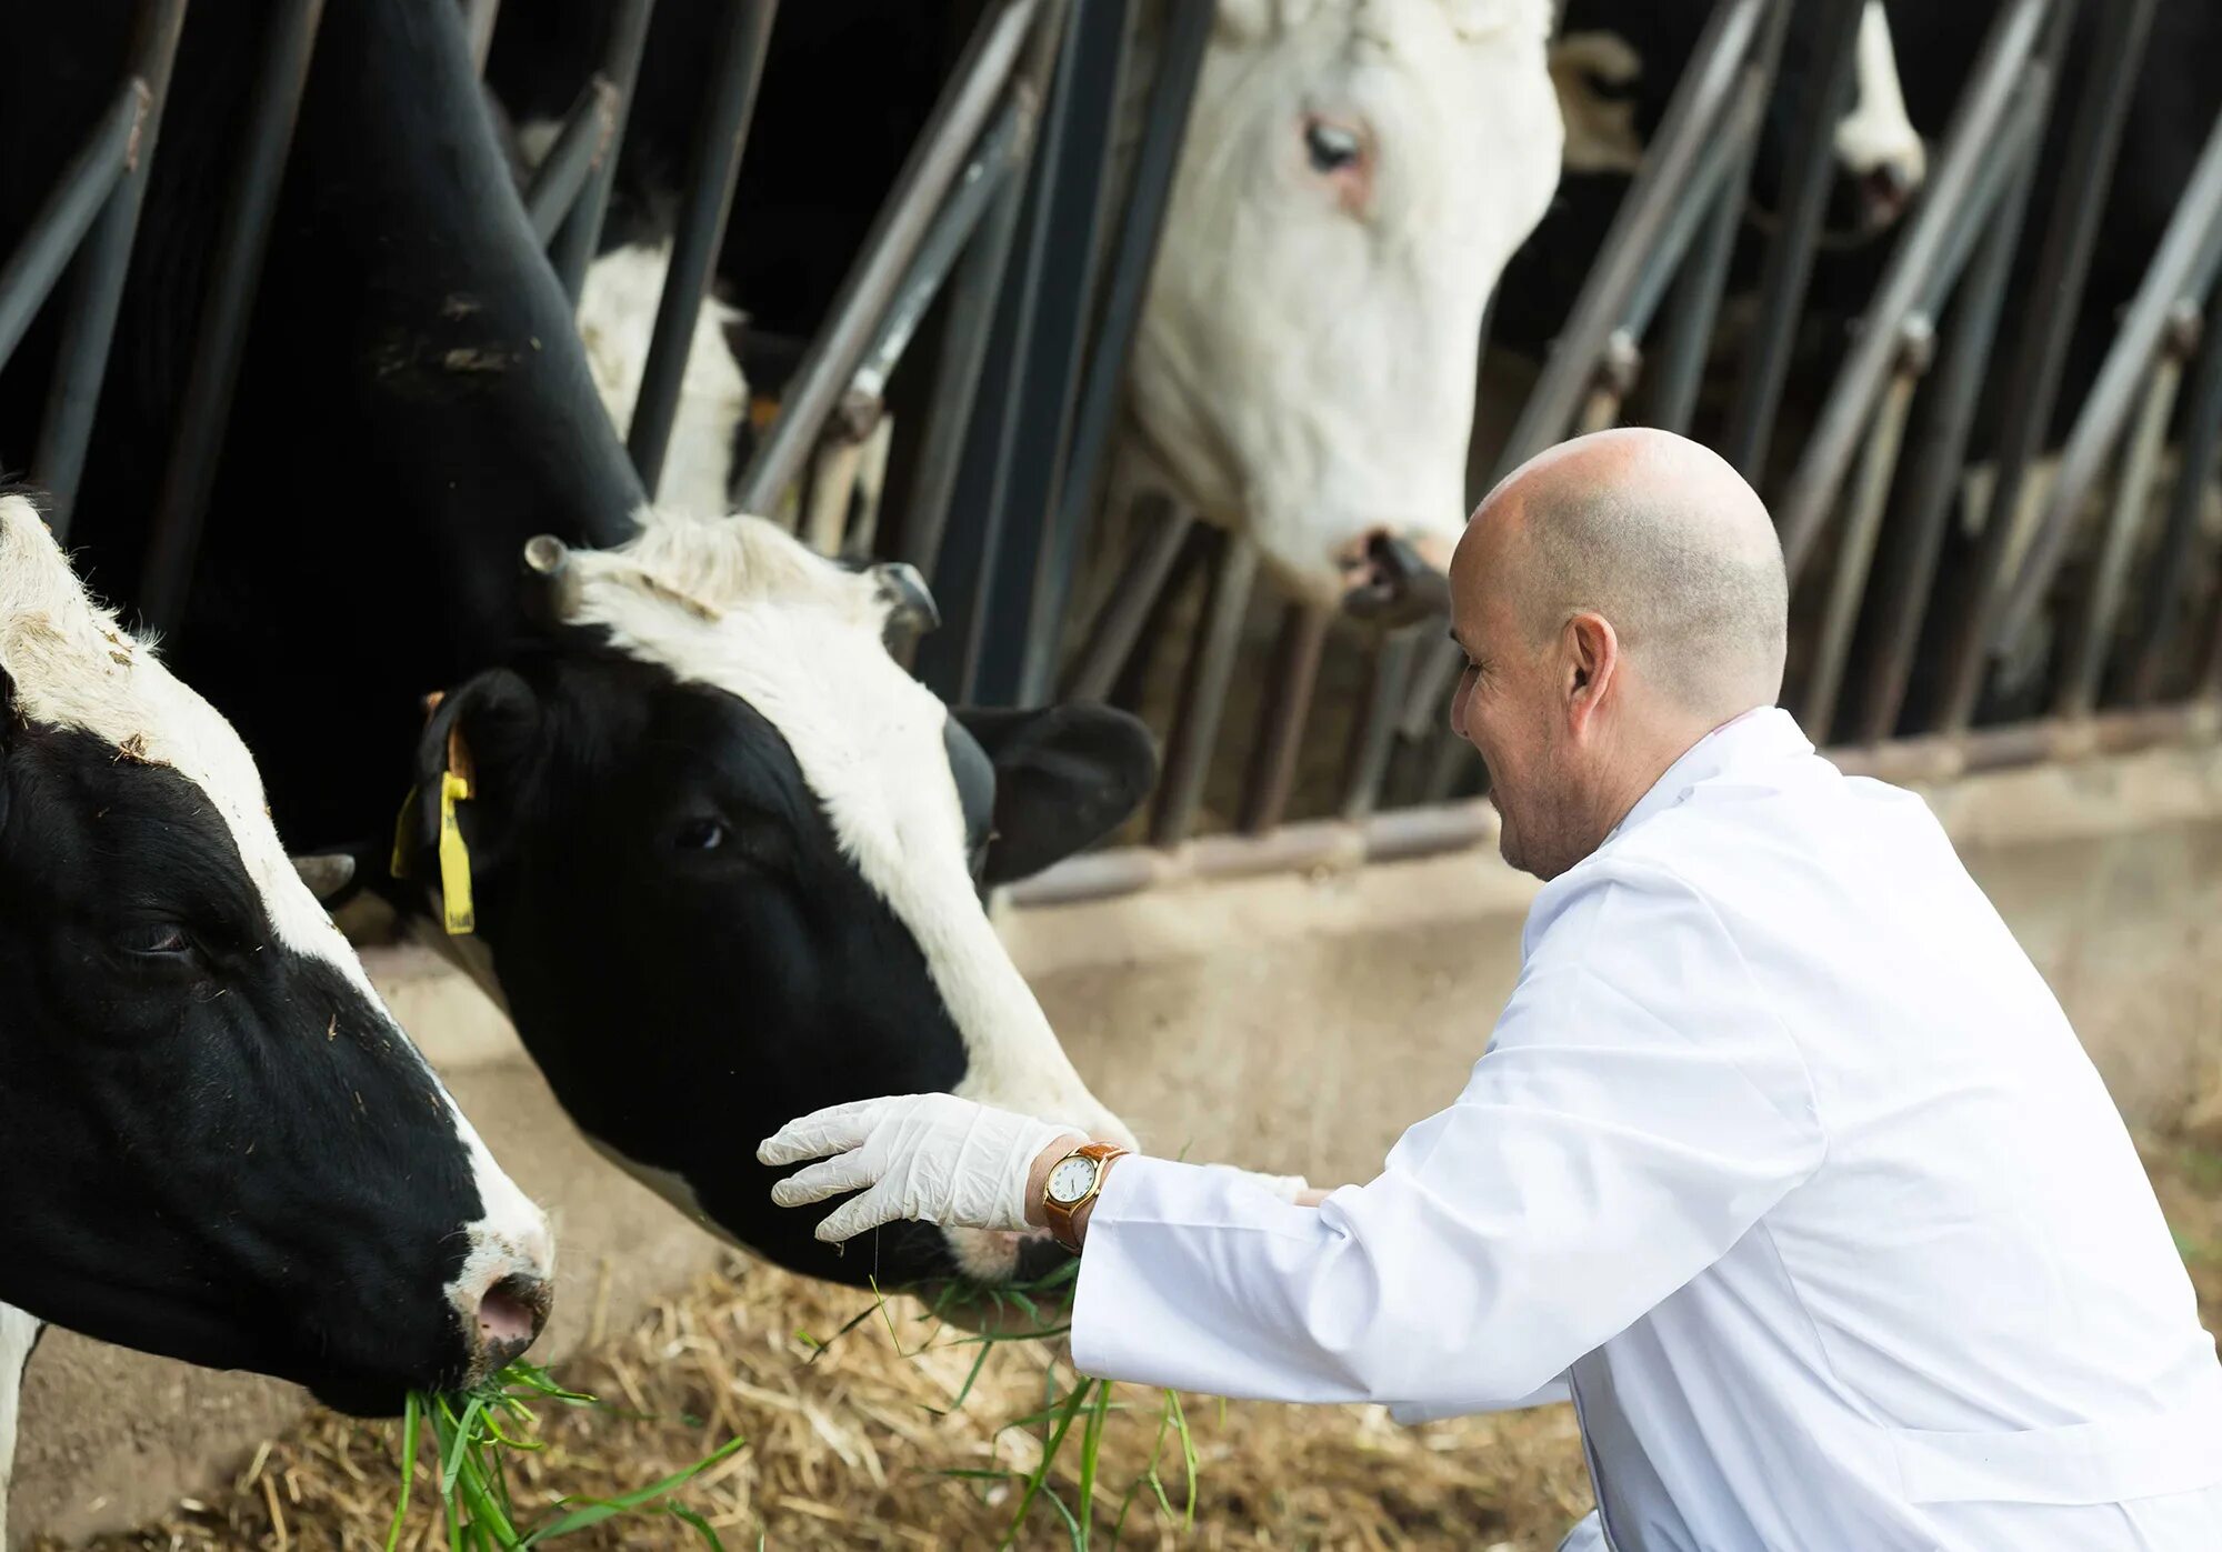
[[[1071,1345],[1400,1421],[1571,1392],[1569,1545],[2222,1548],[2222,1363],[2098,1072],[1929,809],[1773,707],[1538,894],[1375,1181],[1113,1165]]]

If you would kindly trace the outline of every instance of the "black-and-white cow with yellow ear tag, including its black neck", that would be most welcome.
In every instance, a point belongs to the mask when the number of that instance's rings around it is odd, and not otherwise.
[[[42,11],[42,80],[100,80],[127,13]],[[180,307],[198,296],[176,262],[216,218],[204,169],[229,149],[249,18],[187,20],[71,534],[122,598],[142,587]],[[38,120],[64,107],[93,105],[0,96],[0,138],[38,131],[51,176],[69,133]],[[38,202],[27,165],[0,160],[0,247]],[[0,378],[0,407],[36,416],[40,385],[11,396]],[[578,551],[575,607],[520,565],[540,534]],[[1020,1261],[938,1232],[838,1256],[782,1223],[747,1138],[909,1087],[1122,1136],[978,883],[1107,834],[1155,769],[1147,732],[1100,707],[942,707],[882,647],[902,600],[900,574],[813,560],[762,525],[644,511],[460,9],[329,7],[171,658],[258,749],[289,845],[347,849],[416,914],[440,865],[420,805],[411,876],[384,876],[396,814],[413,783],[438,800],[453,732],[476,765],[460,803],[476,936],[447,938],[438,916],[433,936],[498,987],[591,1138],[733,1241],[851,1283]]]

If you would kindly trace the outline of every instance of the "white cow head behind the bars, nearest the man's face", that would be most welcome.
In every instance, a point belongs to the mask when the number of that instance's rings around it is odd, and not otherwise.
[[[1544,0],[1222,0],[1133,349],[1144,449],[1331,605],[1467,514],[1482,307],[1558,182]]]

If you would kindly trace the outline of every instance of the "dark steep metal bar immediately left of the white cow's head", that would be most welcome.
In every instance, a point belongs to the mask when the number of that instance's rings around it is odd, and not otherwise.
[[[1142,145],[1127,189],[1127,220],[1120,227],[1118,253],[1104,282],[1102,322],[1089,356],[1080,405],[1073,411],[1073,445],[1064,462],[1064,489],[1051,518],[1051,536],[1042,551],[1042,589],[1035,598],[1027,638],[1027,674],[1020,694],[1029,700],[1047,694],[1055,676],[1055,631],[1071,598],[1078,549],[1095,509],[1095,487],[1104,454],[1118,425],[1118,396],[1127,385],[1127,362],[1133,356],[1142,300],[1158,260],[1164,211],[1171,202],[1173,173],[1189,133],[1195,105],[1195,82],[1202,78],[1215,7],[1173,7],[1158,47],[1158,78],[1151,82],[1149,111],[1142,122]]]

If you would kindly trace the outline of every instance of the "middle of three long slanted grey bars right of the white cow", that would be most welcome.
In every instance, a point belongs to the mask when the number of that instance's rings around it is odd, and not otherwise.
[[[1782,529],[1782,560],[1789,567],[1791,587],[1804,574],[1829,500],[1835,496],[1860,431],[1873,416],[1875,400],[1891,376],[1898,329],[1929,287],[1953,216],[1978,182],[1978,173],[1998,142],[2000,125],[2006,122],[2015,102],[2015,87],[2035,51],[2049,4],[2051,0],[2006,0],[2000,9],[1969,76],[1966,93],[1953,111],[1953,125],[1944,136],[1929,193],[1913,216],[1913,227],[1891,251],[1891,262],[1875,285],[1875,300],[1866,309],[1860,336],[1829,389],[1829,400],[1798,469],[1775,503],[1775,525]]]

